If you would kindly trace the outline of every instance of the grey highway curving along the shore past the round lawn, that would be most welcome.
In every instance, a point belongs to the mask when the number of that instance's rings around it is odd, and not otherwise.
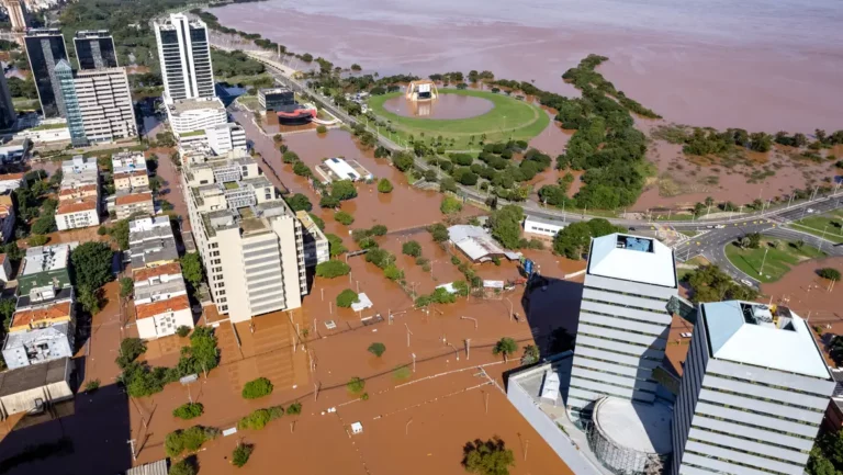
[[[223,49],[231,49],[229,46],[214,45]],[[319,91],[307,89],[306,84],[293,78],[295,71],[276,60],[271,55],[266,52],[246,52],[247,55],[261,61],[267,66],[267,70],[281,83],[286,84],[296,92],[306,92],[316,102],[318,102],[328,112],[334,114],[337,118],[348,125],[359,123],[357,117],[347,114],[344,110],[336,106],[330,98],[326,98],[319,93]],[[367,125],[368,124],[363,124]],[[395,144],[389,137],[378,134],[376,131],[371,131],[378,137],[380,145],[389,148],[392,151],[405,150],[405,147]],[[428,165],[420,158],[416,158],[416,167],[422,170],[427,170]],[[626,219],[626,218],[608,218],[612,224],[625,227],[657,227],[668,226],[674,230],[696,230],[702,234],[696,236],[683,244],[679,244],[675,248],[676,257],[681,260],[687,260],[695,256],[704,256],[710,262],[717,263],[726,272],[737,279],[748,279],[757,284],[758,281],[751,275],[746,275],[738,268],[731,264],[726,258],[724,247],[740,237],[752,234],[762,233],[775,237],[782,237],[790,240],[802,239],[809,246],[821,247],[825,252],[833,256],[843,256],[843,246],[834,246],[833,242],[822,240],[816,236],[807,233],[797,231],[794,229],[782,228],[780,225],[797,220],[809,214],[808,210],[813,213],[824,213],[839,207],[843,207],[843,192],[840,191],[841,183],[838,182],[834,192],[828,196],[818,195],[812,200],[805,202],[798,202],[783,206],[771,206],[761,212],[742,214],[738,217],[716,217],[711,219],[698,219],[698,220],[659,220],[649,222],[645,219]],[[487,194],[480,192],[473,188],[459,186],[460,193],[471,200],[477,202],[485,202],[488,197]],[[504,200],[498,200],[498,204],[508,204]],[[525,214],[529,216],[542,217],[547,219],[557,219],[565,222],[580,222],[591,219],[596,216],[580,213],[566,213],[561,210],[544,207],[541,204],[527,201],[520,203],[514,203],[521,206]]]

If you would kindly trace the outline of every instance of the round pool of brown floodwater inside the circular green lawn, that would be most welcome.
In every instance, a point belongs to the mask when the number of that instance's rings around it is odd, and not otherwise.
[[[411,101],[403,97],[387,99],[383,108],[404,117],[469,118],[483,115],[495,104],[483,98],[441,94],[431,101]]]

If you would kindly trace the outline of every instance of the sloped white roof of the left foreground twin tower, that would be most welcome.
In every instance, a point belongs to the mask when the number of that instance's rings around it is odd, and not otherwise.
[[[664,287],[677,286],[671,248],[655,239],[619,233],[592,241],[588,273]]]

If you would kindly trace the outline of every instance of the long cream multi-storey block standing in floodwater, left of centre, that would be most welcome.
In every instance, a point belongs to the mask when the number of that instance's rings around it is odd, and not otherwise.
[[[241,150],[184,151],[182,160],[193,236],[218,312],[244,321],[300,307],[307,293],[302,225],[257,162]]]

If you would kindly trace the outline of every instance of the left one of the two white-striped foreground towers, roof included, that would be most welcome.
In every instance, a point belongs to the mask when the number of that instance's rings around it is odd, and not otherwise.
[[[652,403],[677,295],[673,251],[655,239],[612,234],[592,240],[567,405],[591,412],[604,396]]]

